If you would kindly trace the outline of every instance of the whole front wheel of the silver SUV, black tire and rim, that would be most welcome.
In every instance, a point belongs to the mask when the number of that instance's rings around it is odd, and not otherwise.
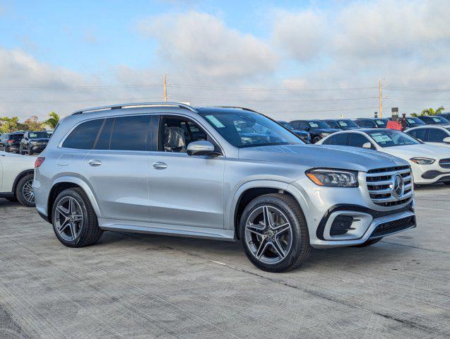
[[[264,215],[269,219],[268,213],[275,227],[265,225]],[[302,210],[295,198],[286,194],[254,198],[242,213],[239,236],[249,261],[267,272],[280,273],[297,268],[311,253]]]

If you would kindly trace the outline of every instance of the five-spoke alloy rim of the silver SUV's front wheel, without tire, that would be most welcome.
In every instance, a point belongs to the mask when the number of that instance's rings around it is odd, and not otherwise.
[[[292,247],[292,226],[278,208],[260,206],[247,218],[245,242],[258,261],[279,263]]]

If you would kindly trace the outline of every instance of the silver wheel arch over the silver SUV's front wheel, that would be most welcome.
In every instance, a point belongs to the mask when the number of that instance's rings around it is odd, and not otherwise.
[[[271,193],[288,194],[295,198],[295,201],[297,201],[303,212],[307,208],[306,201],[301,192],[286,182],[275,180],[254,180],[247,182],[235,192],[232,198],[228,221],[225,224],[228,226],[225,228],[231,228],[235,231],[235,239],[239,239],[239,219],[245,206],[254,198]]]

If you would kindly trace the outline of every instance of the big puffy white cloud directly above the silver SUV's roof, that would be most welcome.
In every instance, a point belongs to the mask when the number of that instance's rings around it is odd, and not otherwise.
[[[156,16],[139,28],[155,38],[160,57],[179,72],[236,79],[271,73],[278,62],[268,44],[206,13]]]

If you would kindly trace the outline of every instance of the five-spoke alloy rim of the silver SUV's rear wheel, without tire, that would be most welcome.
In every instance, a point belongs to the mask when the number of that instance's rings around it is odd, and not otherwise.
[[[65,196],[57,204],[54,226],[60,237],[66,241],[75,240],[83,227],[83,210],[80,203],[71,196]]]

